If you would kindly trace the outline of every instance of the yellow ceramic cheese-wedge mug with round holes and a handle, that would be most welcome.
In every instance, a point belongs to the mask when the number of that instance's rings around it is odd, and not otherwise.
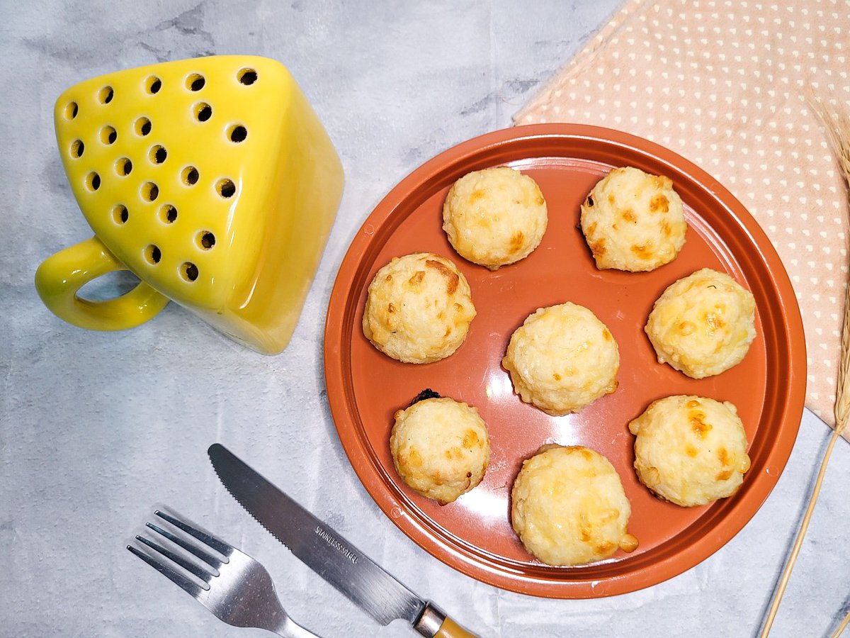
[[[95,77],[54,108],[65,173],[94,236],[46,259],[48,309],[133,328],[169,299],[260,352],[286,347],[343,192],[331,140],[275,60],[222,55]],[[93,301],[80,288],[133,271]]]

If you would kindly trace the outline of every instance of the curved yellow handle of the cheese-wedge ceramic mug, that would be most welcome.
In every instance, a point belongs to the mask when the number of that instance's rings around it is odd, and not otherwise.
[[[116,299],[92,301],[77,292],[112,271],[126,271],[97,237],[69,246],[38,266],[36,289],[44,305],[66,322],[89,330],[125,330],[152,319],[168,298],[145,282]]]

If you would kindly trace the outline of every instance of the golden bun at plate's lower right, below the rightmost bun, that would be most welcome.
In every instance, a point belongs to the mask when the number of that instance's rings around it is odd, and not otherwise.
[[[668,396],[629,424],[638,478],[657,496],[683,507],[738,491],[750,469],[746,434],[729,402]]]

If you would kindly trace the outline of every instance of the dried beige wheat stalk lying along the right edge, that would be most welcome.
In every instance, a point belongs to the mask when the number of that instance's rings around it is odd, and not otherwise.
[[[834,97],[830,96],[829,100],[821,100],[814,94],[808,94],[806,100],[812,107],[815,115],[818,116],[829,136],[830,146],[832,147],[833,154],[836,156],[838,166],[842,170],[845,185],[847,185],[847,194],[850,197],[850,117],[847,116],[847,111],[842,107],[842,103]],[[836,428],[832,432],[829,445],[826,447],[824,459],[820,464],[820,470],[818,472],[818,480],[814,483],[812,496],[808,501],[806,515],[803,516],[800,529],[797,531],[791,555],[788,556],[785,570],[782,572],[782,577],[779,578],[779,584],[774,594],[774,601],[770,606],[764,627],[762,627],[762,638],[767,638],[770,628],[774,624],[776,612],[779,611],[779,602],[782,601],[782,595],[785,594],[785,587],[788,584],[789,578],[791,578],[791,570],[794,568],[797,555],[800,553],[802,539],[806,536],[808,523],[814,511],[814,504],[818,501],[820,486],[824,482],[826,465],[829,464],[830,457],[832,456],[832,448],[835,447],[838,438],[842,436],[844,428],[847,427],[847,420],[850,418],[850,285],[847,285],[844,296],[842,352],[838,362],[835,416]],[[842,620],[842,623],[836,629],[836,633],[833,634],[833,638],[837,638],[842,633],[848,622],[850,622],[850,614],[847,614],[847,617]]]

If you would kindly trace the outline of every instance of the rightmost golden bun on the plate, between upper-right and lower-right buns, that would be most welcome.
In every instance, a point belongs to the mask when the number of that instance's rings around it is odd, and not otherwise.
[[[661,294],[643,330],[659,363],[703,379],[744,358],[756,338],[755,310],[749,290],[726,273],[703,268]]]

